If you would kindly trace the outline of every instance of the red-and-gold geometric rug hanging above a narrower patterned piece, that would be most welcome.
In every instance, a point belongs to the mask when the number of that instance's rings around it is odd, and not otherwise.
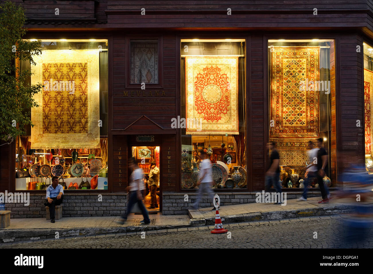
[[[280,164],[303,167],[319,137],[320,47],[272,47],[269,141]]]

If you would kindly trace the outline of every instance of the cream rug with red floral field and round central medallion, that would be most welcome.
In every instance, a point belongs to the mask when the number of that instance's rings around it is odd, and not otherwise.
[[[238,57],[185,57],[185,82],[186,134],[239,133]]]

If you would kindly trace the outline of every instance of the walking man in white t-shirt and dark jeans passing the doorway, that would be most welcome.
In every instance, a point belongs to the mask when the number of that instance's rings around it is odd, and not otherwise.
[[[131,171],[134,170],[130,177],[129,186],[127,186],[126,191],[128,194],[128,206],[127,214],[124,214],[118,223],[123,224],[127,220],[127,215],[131,213],[132,208],[137,203],[144,220],[141,221],[143,224],[150,224],[149,214],[146,210],[144,204],[142,203],[142,190],[145,189],[144,185],[144,175],[142,174],[142,169],[137,166],[136,159],[134,157],[128,159],[128,169]]]

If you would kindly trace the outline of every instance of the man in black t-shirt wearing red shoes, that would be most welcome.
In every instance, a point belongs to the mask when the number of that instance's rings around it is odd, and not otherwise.
[[[323,147],[323,138],[317,139],[317,145],[319,146],[319,151],[317,151],[317,183],[321,191],[323,200],[319,204],[328,204],[330,193],[327,186],[324,185],[323,177],[325,176],[325,170],[328,164],[328,155]]]

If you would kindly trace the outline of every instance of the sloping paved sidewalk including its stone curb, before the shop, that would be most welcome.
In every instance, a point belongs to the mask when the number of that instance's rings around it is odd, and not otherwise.
[[[238,204],[225,205],[219,211],[224,224],[249,221],[280,220],[299,217],[344,214],[351,209],[343,201],[339,203],[322,204],[319,197],[308,198],[308,201],[297,202],[288,199],[285,206],[273,204]],[[94,236],[100,234],[147,233],[189,230],[195,226],[213,225],[215,212],[211,208],[189,210],[188,215],[149,215],[151,224],[141,225],[142,215],[130,214],[128,221],[117,224],[119,216],[109,217],[65,217],[52,224],[45,218],[11,219],[10,226],[0,229],[0,243],[25,240],[40,240],[55,238]],[[195,228],[197,229],[197,228]],[[57,233],[58,232],[58,233]]]

